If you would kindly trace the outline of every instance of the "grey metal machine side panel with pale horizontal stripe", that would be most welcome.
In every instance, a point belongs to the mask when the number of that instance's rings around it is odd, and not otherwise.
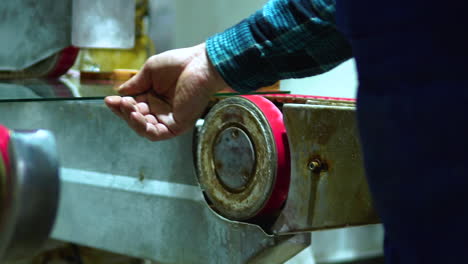
[[[282,263],[309,243],[308,234],[285,243],[213,212],[196,182],[190,133],[149,143],[101,100],[0,102],[0,113],[11,128],[45,128],[57,138],[55,239],[157,263],[246,263],[271,254],[278,257],[267,263]]]

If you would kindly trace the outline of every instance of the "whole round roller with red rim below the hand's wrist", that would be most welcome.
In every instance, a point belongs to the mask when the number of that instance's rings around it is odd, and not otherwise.
[[[201,187],[221,215],[269,216],[287,198],[289,148],[281,111],[256,95],[231,97],[205,118],[197,144]]]

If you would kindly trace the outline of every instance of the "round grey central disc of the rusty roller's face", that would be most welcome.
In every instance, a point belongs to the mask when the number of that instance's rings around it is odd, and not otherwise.
[[[221,131],[213,146],[219,181],[232,191],[242,191],[255,172],[255,150],[249,135],[237,127]]]

